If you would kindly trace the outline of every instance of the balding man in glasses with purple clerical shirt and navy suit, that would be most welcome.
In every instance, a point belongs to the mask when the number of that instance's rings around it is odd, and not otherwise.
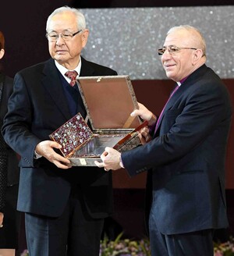
[[[177,84],[158,119],[144,105],[132,113],[149,121],[141,133],[147,143],[121,154],[106,148],[96,164],[106,171],[125,168],[129,176],[148,172],[153,256],[213,256],[212,234],[228,226],[229,94],[205,65],[206,44],[195,27],[172,27],[158,54]]]

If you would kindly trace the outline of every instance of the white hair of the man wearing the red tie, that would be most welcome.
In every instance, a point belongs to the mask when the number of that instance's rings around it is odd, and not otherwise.
[[[52,17],[62,12],[73,12],[76,16],[77,29],[84,30],[86,28],[86,22],[82,12],[80,12],[78,9],[75,9],[69,6],[62,6],[62,7],[59,7],[58,9],[55,9],[55,11],[52,12],[50,16],[48,16],[48,19],[46,22],[46,32],[49,32],[48,27],[49,27],[49,24],[51,23]]]

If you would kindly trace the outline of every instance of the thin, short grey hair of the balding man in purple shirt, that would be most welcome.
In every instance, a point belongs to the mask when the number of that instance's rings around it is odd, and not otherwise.
[[[172,27],[171,29],[168,30],[168,34],[175,32],[175,31],[179,31],[179,30],[186,30],[188,32],[195,32],[195,36],[193,37],[193,41],[197,42],[197,47],[200,48],[203,52],[203,55],[206,55],[206,41],[204,40],[203,35],[201,34],[200,30],[197,29],[197,27],[192,27],[190,25],[181,25],[178,27]],[[197,39],[199,38],[199,41],[197,41]],[[194,45],[193,47],[195,47],[196,45]]]

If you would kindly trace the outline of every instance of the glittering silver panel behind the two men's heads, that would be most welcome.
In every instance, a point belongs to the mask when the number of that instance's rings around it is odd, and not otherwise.
[[[167,79],[157,49],[169,28],[188,24],[207,43],[207,66],[234,78],[234,6],[82,9],[90,36],[83,57],[131,80]]]

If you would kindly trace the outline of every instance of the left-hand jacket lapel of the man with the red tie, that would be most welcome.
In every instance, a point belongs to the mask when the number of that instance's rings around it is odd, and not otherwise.
[[[42,79],[42,84],[48,91],[48,94],[51,95],[55,106],[57,106],[66,119],[72,118],[54,59],[49,59],[48,62],[45,62],[43,73],[44,78]]]

